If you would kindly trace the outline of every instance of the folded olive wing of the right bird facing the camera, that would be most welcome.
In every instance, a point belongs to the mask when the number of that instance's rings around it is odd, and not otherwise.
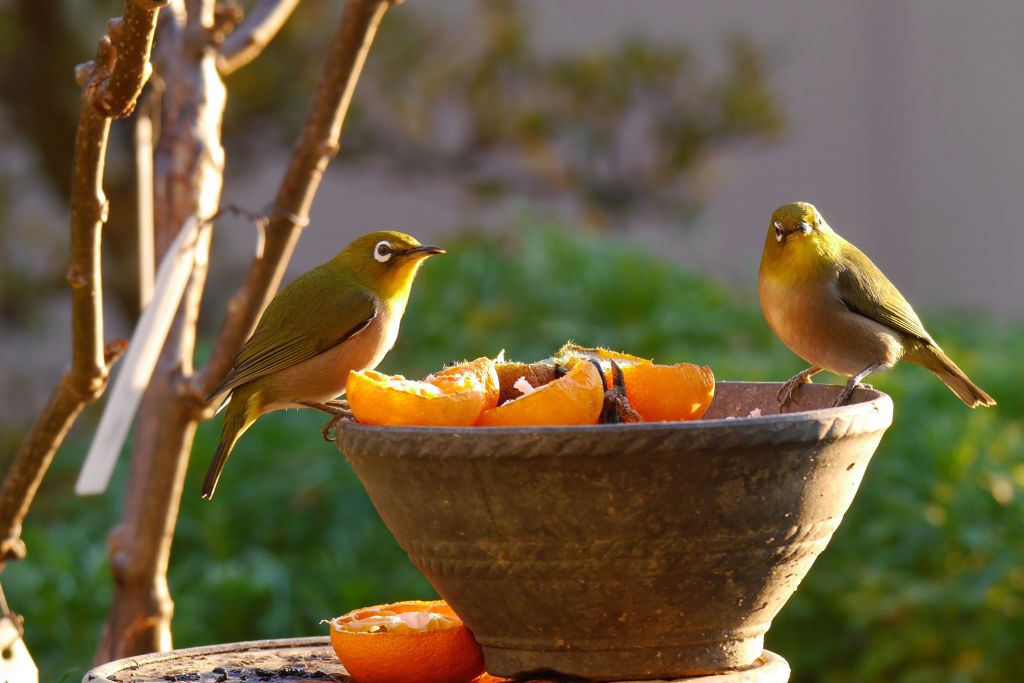
[[[859,315],[881,323],[897,332],[934,344],[913,308],[874,263],[847,243],[837,281],[840,300]]]

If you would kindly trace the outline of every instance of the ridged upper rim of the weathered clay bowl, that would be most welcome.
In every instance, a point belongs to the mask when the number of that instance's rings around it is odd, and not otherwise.
[[[741,382],[722,380],[716,383],[716,400],[720,389],[744,387],[771,389],[771,396],[781,388],[782,382]],[[801,398],[822,402],[830,402],[843,387],[835,384],[805,384],[800,388]],[[772,407],[777,410],[777,407]],[[709,412],[715,409],[712,402]],[[474,441],[500,441],[510,436],[525,434],[542,437],[550,436],[581,436],[601,434],[621,436],[636,434],[649,436],[652,433],[666,432],[701,432],[707,436],[717,433],[729,434],[730,447],[735,443],[735,437],[741,437],[751,443],[782,443],[806,441],[808,439],[840,438],[853,434],[861,434],[886,430],[892,424],[892,398],[878,389],[857,388],[851,402],[837,408],[818,408],[809,411],[792,413],[766,413],[756,417],[736,416],[724,418],[705,418],[683,422],[640,422],[633,424],[606,425],[557,425],[557,426],[521,426],[521,427],[421,427],[421,426],[380,426],[365,425],[354,421],[341,422],[337,425],[338,447],[344,449],[349,438],[359,440],[380,438],[387,441],[403,439],[410,436],[458,436],[470,437]],[[823,431],[824,430],[824,431]],[[442,439],[443,440],[443,439]],[[427,441],[428,443],[430,440]],[[707,447],[710,443],[705,442]]]

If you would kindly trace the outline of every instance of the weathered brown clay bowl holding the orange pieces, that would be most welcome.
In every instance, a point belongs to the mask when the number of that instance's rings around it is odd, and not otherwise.
[[[700,675],[761,654],[892,421],[868,389],[778,415],[778,388],[720,382],[697,422],[350,423],[338,444],[492,674]]]

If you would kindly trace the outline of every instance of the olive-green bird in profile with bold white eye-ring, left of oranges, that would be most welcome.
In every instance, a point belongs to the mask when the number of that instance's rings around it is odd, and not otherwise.
[[[267,305],[224,381],[224,427],[203,482],[213,498],[227,457],[258,417],[286,408],[336,412],[349,371],[377,367],[391,350],[423,261],[444,250],[402,232],[364,234],[299,275]]]

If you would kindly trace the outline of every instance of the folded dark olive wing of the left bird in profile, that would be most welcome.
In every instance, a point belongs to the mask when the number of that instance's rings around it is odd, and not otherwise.
[[[296,281],[287,289],[298,285]],[[295,293],[295,290],[292,290]],[[285,290],[282,290],[285,294]],[[274,298],[227,377],[208,400],[257,378],[296,366],[361,332],[377,315],[377,301],[361,289],[343,295]],[[309,323],[313,322],[313,329]]]

